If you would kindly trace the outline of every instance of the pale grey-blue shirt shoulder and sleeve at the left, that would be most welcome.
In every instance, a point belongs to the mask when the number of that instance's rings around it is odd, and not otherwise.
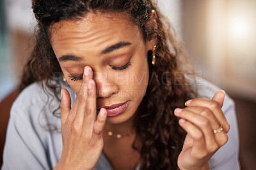
[[[12,105],[6,132],[6,169],[53,168],[60,159],[62,146],[61,121],[53,114],[59,107],[54,91],[43,87],[41,82],[32,83],[20,92]]]

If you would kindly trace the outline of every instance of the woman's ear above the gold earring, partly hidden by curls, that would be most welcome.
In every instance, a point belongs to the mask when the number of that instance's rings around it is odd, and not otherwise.
[[[147,51],[149,51],[149,50],[152,50],[154,45],[157,45],[158,25],[157,25],[157,15],[155,10],[151,11],[151,17],[150,17],[150,20],[148,20],[147,22],[147,26],[149,30],[152,30],[152,34],[150,34],[149,37],[147,37],[147,42],[146,42],[146,48],[147,48]]]

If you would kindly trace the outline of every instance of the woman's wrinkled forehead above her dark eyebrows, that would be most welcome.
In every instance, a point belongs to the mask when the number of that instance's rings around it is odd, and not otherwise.
[[[55,52],[58,49],[61,49],[61,53],[81,51],[81,45],[88,52],[95,50],[95,46],[100,50],[119,41],[134,41],[134,38],[142,40],[141,35],[139,27],[127,20],[125,15],[88,13],[81,20],[63,20],[54,24],[51,43]]]

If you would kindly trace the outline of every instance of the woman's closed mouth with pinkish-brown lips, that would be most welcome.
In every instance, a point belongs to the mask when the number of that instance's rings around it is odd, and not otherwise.
[[[128,105],[128,101],[125,103],[119,103],[119,104],[111,104],[110,106],[103,106],[102,108],[105,108],[107,110],[108,117],[115,117],[116,115],[120,115]],[[97,113],[99,113],[100,108],[97,108]]]

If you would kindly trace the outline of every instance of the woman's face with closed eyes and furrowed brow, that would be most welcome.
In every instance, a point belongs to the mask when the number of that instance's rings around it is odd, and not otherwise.
[[[97,108],[128,101],[125,111],[107,118],[111,124],[125,122],[136,113],[148,85],[147,52],[155,44],[154,39],[145,43],[140,28],[116,13],[88,13],[79,21],[58,22],[51,31],[52,48],[76,94],[82,80],[72,79],[83,76],[84,67],[90,66]]]

